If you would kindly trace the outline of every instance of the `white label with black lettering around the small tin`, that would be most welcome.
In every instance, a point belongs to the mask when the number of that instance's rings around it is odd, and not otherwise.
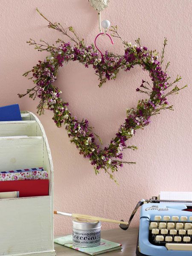
[[[73,243],[80,247],[97,246],[100,244],[101,231],[73,230]]]

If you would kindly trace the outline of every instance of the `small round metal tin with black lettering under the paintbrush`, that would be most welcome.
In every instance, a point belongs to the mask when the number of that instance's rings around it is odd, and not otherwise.
[[[79,247],[95,247],[101,241],[101,221],[73,219],[73,244]]]

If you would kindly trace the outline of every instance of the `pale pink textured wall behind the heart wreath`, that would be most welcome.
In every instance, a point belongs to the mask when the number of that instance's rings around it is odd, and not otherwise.
[[[38,100],[18,99],[17,93],[32,87],[32,82],[22,74],[46,54],[35,51],[25,42],[29,38],[43,38],[53,43],[62,37],[47,28],[36,7],[65,28],[73,25],[87,44],[92,43],[98,33],[97,14],[87,0],[0,0],[0,105],[18,102],[21,110],[34,113]],[[180,85],[185,85],[192,79],[190,9],[190,0],[111,0],[102,18],[117,24],[125,40],[134,43],[140,37],[149,49],[161,51],[166,36],[169,41],[165,61],[171,61],[169,75],[175,78],[180,74],[183,77]],[[121,53],[121,42],[114,41],[112,46],[108,38],[101,38],[98,44],[103,50]],[[69,63],[59,73],[57,85],[63,99],[70,103],[70,111],[79,119],[87,118],[106,145],[125,119],[126,108],[135,107],[143,97],[135,89],[144,78],[148,78],[147,74],[134,67],[130,72],[120,72],[116,81],[99,88],[91,67],[86,69],[81,64]],[[128,220],[141,198],[150,198],[160,191],[192,190],[191,98],[191,87],[172,96],[169,102],[175,111],[154,116],[151,124],[130,140],[130,144],[139,149],[127,150],[124,160],[137,161],[137,164],[124,166],[115,173],[119,186],[105,173],[95,176],[89,161],[70,143],[64,127],[56,128],[52,113],[46,111],[40,120],[54,163],[55,209]],[[138,220],[137,213],[132,225],[138,225]],[[104,229],[115,227],[103,223]],[[56,216],[55,234],[70,232],[71,219]]]

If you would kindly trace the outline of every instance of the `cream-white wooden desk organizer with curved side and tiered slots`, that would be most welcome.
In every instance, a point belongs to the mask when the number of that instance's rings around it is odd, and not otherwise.
[[[0,199],[0,255],[54,256],[53,166],[39,119],[21,112],[22,121],[0,122],[0,171],[44,167],[49,196]],[[1,138],[22,136],[20,138]]]

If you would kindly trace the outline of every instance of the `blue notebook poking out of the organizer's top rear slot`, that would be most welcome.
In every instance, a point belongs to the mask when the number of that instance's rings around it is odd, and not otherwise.
[[[19,105],[0,107],[0,121],[21,121]]]

